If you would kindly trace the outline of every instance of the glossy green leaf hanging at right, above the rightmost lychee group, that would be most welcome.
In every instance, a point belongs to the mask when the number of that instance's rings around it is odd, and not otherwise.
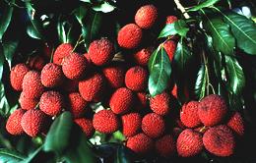
[[[245,77],[241,66],[235,58],[225,56],[227,88],[235,94],[241,94],[245,85]]]

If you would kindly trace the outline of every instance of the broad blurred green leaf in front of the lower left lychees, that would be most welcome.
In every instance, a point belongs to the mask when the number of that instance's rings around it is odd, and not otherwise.
[[[69,145],[72,127],[71,114],[69,112],[62,113],[51,125],[45,138],[43,150],[62,154]]]

